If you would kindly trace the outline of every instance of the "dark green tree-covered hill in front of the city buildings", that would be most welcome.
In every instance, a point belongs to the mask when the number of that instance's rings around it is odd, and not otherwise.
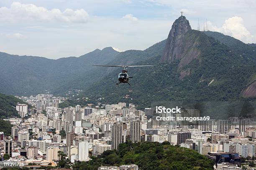
[[[213,170],[214,162],[195,150],[157,142],[122,143],[116,150],[77,162],[74,170],[97,170],[100,166],[136,164],[140,170]]]

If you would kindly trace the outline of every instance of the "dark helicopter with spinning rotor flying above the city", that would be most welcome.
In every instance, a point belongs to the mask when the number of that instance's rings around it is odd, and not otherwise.
[[[118,82],[116,85],[119,85],[120,83],[130,83],[128,82],[130,78],[129,75],[127,74],[127,70],[125,70],[127,67],[147,67],[147,66],[155,66],[155,65],[92,65],[92,66],[102,66],[102,67],[123,67],[122,72],[118,74]]]

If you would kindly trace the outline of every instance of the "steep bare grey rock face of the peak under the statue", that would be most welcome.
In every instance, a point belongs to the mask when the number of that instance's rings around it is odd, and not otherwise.
[[[179,68],[181,68],[200,55],[200,51],[194,48],[197,46],[196,39],[188,41],[185,37],[185,33],[189,30],[191,30],[191,26],[186,17],[180,16],[175,20],[169,32],[160,62],[172,62],[178,59],[181,60],[179,63]]]

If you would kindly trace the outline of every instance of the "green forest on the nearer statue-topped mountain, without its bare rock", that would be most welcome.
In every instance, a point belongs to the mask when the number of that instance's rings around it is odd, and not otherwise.
[[[253,72],[256,72],[255,56],[241,57],[227,45],[196,30],[189,30],[184,39],[190,40],[193,37],[197,38],[200,57],[188,65],[178,68],[179,60],[159,64],[162,52],[159,51],[158,55],[150,59],[133,63],[153,64],[156,67],[128,68],[133,77],[131,86],[116,86],[118,70],[114,70],[104,81],[98,81],[89,88],[85,95],[107,104],[132,102],[138,104],[139,108],[148,107],[156,101],[245,100],[241,97],[241,91],[246,88]],[[130,55],[133,55],[132,52],[126,51],[127,59],[121,59],[129,60]],[[190,74],[181,80],[180,72],[188,69]],[[212,80],[214,81],[209,85]],[[125,98],[125,95],[130,95],[130,98]],[[254,99],[255,97],[246,100]]]

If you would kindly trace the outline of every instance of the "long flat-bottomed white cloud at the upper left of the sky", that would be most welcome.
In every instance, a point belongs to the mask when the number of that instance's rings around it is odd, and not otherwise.
[[[59,9],[47,10],[45,7],[37,7],[33,4],[21,4],[13,2],[8,7],[0,7],[0,21],[18,22],[24,20],[37,21],[61,21],[69,23],[85,23],[88,13],[84,9],[72,10],[67,8],[63,12]]]

